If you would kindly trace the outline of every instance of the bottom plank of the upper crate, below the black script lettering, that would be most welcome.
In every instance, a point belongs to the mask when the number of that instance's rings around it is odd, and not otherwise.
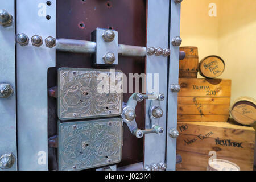
[[[227,122],[228,118],[221,114],[178,114],[177,122]]]

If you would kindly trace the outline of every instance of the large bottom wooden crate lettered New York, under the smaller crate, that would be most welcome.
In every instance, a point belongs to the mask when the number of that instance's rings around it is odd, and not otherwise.
[[[182,162],[177,170],[205,171],[209,152],[216,151],[217,159],[229,160],[241,170],[253,170],[255,130],[249,126],[217,122],[179,122],[177,154]]]

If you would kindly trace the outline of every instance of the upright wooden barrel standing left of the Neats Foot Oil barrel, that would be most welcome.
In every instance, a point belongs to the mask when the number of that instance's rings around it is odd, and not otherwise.
[[[180,47],[185,52],[185,59],[180,60],[179,78],[197,78],[198,72],[198,49],[197,47]]]

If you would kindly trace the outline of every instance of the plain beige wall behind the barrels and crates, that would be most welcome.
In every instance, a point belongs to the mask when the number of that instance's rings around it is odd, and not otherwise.
[[[216,3],[217,17],[209,16],[209,3]],[[199,60],[209,55],[224,59],[226,69],[220,78],[232,80],[232,101],[256,98],[255,0],[183,1],[181,38],[181,46],[199,48]]]

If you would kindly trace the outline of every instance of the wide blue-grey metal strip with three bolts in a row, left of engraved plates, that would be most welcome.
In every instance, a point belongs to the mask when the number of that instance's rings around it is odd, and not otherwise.
[[[43,45],[16,45],[19,170],[48,170],[47,71],[55,67],[56,48],[46,47],[56,37],[56,0],[17,0],[17,34],[42,36]],[[46,13],[44,15],[44,13]],[[51,19],[46,19],[46,15]]]

